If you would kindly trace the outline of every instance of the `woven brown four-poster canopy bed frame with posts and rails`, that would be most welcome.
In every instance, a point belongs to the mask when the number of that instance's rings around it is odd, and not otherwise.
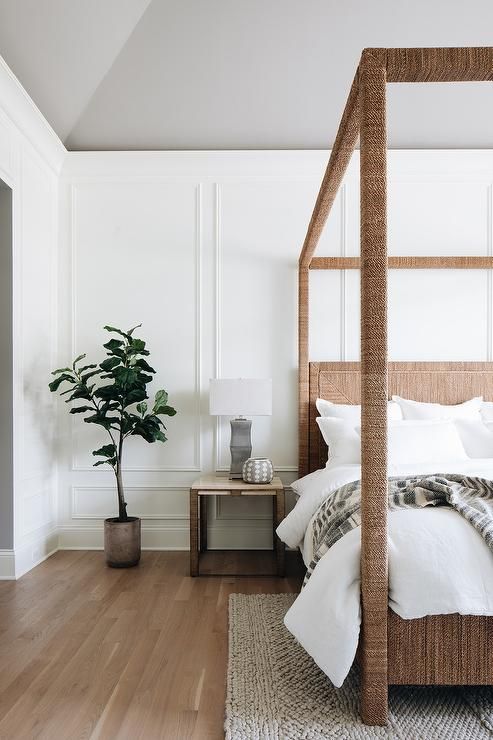
[[[388,685],[493,684],[493,617],[402,620],[388,609],[387,556],[387,268],[493,268],[492,257],[387,257],[387,82],[493,79],[492,48],[365,49],[361,56],[299,260],[299,469],[318,465],[310,436],[310,389],[320,366],[308,357],[311,269],[361,270],[361,715],[385,724]],[[360,137],[361,257],[314,258],[337,191]],[[339,368],[341,363],[338,364]],[[486,373],[491,364],[459,368]],[[418,369],[418,368],[416,368]],[[452,366],[447,369],[452,371]],[[310,370],[312,385],[310,385]],[[392,369],[391,369],[392,377]],[[486,377],[486,376],[485,376]],[[316,390],[315,390],[316,389]],[[491,389],[493,390],[493,388]],[[486,395],[486,394],[485,394]],[[426,400],[423,398],[422,400]],[[442,400],[435,394],[430,400]],[[459,398],[457,400],[464,400]],[[492,399],[493,400],[493,399]],[[357,402],[357,401],[354,401]],[[450,402],[450,400],[449,400]],[[315,450],[315,452],[314,452]]]

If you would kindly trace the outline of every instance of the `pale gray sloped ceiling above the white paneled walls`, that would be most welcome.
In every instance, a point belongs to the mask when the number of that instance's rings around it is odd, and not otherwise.
[[[488,46],[491,0],[0,0],[71,150],[325,149],[365,46]],[[491,84],[390,85],[392,147],[493,147]]]

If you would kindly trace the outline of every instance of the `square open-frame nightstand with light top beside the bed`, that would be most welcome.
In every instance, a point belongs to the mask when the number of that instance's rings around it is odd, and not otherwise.
[[[271,483],[257,484],[213,475],[199,478],[190,488],[190,575],[199,575],[200,554],[207,551],[207,499],[210,496],[271,496],[273,501],[275,571],[278,576],[284,576],[284,543],[275,533],[277,526],[284,519],[284,486],[281,479],[273,478]],[[227,573],[213,573],[207,571],[207,575],[273,575],[273,573],[252,574],[230,573],[229,571]]]

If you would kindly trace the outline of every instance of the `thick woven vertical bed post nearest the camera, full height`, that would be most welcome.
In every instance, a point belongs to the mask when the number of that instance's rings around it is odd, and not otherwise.
[[[387,136],[385,56],[360,63],[361,716],[387,721]],[[368,310],[371,306],[371,310]]]

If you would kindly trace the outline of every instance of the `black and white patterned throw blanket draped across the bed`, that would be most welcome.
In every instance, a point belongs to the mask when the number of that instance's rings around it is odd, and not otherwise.
[[[361,482],[334,491],[320,506],[313,523],[313,560],[304,584],[320,558],[343,535],[361,524]],[[493,551],[493,481],[452,473],[389,478],[389,509],[452,506],[478,530]]]

